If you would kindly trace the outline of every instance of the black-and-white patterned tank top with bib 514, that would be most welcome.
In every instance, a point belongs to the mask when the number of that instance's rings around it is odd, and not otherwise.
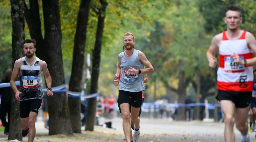
[[[39,65],[39,58],[30,66],[26,57],[22,57],[22,64],[19,72],[20,78],[20,101],[30,99],[43,99],[42,76]]]

